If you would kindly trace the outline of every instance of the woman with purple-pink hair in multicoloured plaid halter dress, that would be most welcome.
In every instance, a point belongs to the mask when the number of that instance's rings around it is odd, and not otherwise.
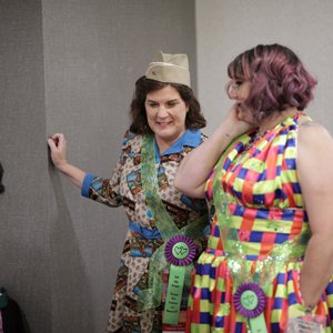
[[[188,332],[333,332],[333,140],[303,112],[316,80],[280,44],[228,73],[235,104],[174,182],[211,210]]]

